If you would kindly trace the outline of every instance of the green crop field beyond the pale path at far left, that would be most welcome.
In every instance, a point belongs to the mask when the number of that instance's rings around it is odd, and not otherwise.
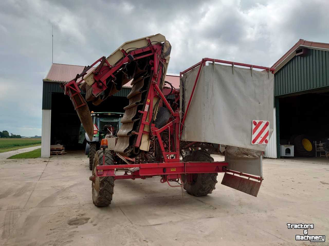
[[[0,138],[0,153],[41,145],[41,138]]]

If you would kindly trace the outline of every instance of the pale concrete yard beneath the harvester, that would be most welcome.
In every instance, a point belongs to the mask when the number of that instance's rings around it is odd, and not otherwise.
[[[216,160],[222,160],[217,157]],[[220,185],[193,197],[159,178],[115,181],[107,208],[92,204],[81,154],[0,160],[0,245],[328,245],[329,162],[264,159],[258,197]],[[297,242],[309,235],[326,241]]]

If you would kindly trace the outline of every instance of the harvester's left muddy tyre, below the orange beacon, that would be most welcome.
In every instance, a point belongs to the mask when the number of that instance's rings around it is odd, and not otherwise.
[[[96,167],[103,165],[103,150],[95,154],[92,175],[96,176]],[[111,151],[105,150],[105,166],[114,165]],[[111,204],[114,192],[114,177],[95,177],[91,183],[92,202],[97,207],[107,207]]]

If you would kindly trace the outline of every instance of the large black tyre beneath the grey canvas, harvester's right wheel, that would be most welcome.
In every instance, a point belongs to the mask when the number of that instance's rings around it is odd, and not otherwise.
[[[192,151],[183,159],[193,162],[213,162],[210,154],[203,150]],[[182,175],[183,188],[193,196],[205,196],[215,190],[218,173],[190,173]]]

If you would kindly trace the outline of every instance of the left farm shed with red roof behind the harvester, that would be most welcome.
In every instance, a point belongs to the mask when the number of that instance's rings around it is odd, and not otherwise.
[[[64,95],[60,84],[70,81],[81,73],[84,66],[53,63],[43,81],[42,90],[42,138],[41,157],[50,156],[50,145],[60,143],[66,148],[84,148],[79,146],[78,136],[80,120],[70,98]],[[165,80],[179,88],[179,75],[167,74]],[[88,102],[90,111],[95,112],[124,112],[128,105],[127,95],[131,91],[128,83],[122,90],[109,97],[106,103],[98,106]],[[82,92],[83,94],[83,92]]]

